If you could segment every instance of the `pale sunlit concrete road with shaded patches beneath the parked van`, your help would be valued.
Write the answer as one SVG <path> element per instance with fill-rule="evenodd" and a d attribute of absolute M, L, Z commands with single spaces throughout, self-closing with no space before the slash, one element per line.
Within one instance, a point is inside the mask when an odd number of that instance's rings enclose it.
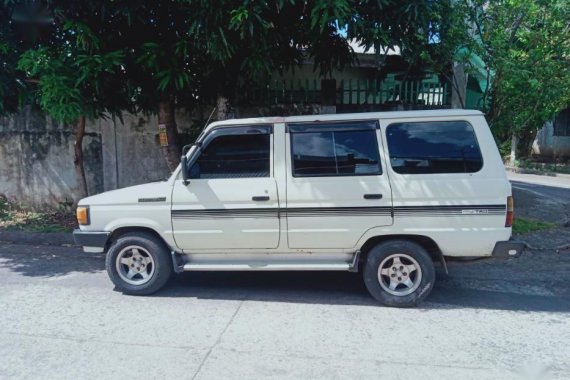
<path fill-rule="evenodd" d="M 450 270 L 416 309 L 351 273 L 186 273 L 129 297 L 100 255 L 0 243 L 0 378 L 569 378 L 570 252 Z"/>

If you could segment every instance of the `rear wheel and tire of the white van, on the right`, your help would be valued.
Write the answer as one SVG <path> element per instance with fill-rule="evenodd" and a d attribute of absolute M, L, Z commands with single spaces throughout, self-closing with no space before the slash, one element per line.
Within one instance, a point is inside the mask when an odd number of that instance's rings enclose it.
<path fill-rule="evenodd" d="M 412 241 L 386 241 L 368 252 L 364 283 L 372 297 L 383 305 L 417 306 L 431 293 L 434 282 L 433 260 Z"/>

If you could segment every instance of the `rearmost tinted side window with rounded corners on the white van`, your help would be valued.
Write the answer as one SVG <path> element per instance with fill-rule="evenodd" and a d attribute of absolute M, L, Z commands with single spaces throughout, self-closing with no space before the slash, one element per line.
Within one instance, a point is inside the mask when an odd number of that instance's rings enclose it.
<path fill-rule="evenodd" d="M 400 174 L 474 173 L 483 159 L 466 121 L 390 124 L 390 163 Z"/>

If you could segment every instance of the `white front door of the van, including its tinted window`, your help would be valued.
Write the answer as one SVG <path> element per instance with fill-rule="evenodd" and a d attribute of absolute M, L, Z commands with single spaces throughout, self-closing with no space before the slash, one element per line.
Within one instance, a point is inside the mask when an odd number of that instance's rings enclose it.
<path fill-rule="evenodd" d="M 172 227 L 184 251 L 273 249 L 279 199 L 272 126 L 226 127 L 203 141 L 185 185 L 174 184 Z"/>

